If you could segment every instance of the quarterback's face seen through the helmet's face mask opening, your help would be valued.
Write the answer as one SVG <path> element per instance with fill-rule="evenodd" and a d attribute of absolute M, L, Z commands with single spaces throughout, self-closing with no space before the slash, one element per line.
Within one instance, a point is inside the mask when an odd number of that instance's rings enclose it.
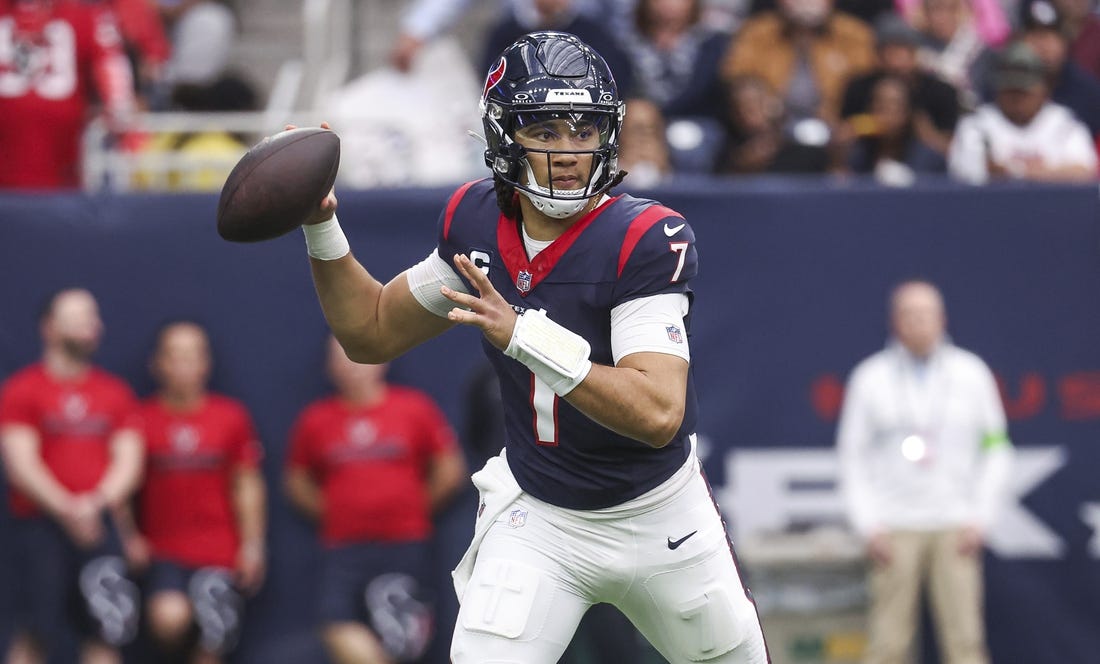
<path fill-rule="evenodd" d="M 534 119 L 516 130 L 516 142 L 527 148 L 535 182 L 552 191 L 584 189 L 592 178 L 593 155 L 601 147 L 600 123 L 583 113 L 568 118 Z M 529 179 L 529 175 L 525 176 Z"/>

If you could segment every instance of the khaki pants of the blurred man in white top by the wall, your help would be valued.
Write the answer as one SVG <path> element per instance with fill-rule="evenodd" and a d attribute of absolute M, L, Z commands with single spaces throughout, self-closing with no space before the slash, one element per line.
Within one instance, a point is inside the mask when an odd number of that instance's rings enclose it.
<path fill-rule="evenodd" d="M 988 664 L 982 622 L 981 553 L 963 555 L 959 532 L 893 532 L 893 557 L 870 572 L 866 664 L 910 661 L 927 590 L 943 664 Z"/>

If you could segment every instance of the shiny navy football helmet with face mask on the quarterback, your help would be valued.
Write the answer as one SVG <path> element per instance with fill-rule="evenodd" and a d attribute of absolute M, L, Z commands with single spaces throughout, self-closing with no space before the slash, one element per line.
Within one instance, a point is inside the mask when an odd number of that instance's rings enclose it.
<path fill-rule="evenodd" d="M 481 99 L 485 164 L 539 211 L 570 217 L 615 184 L 624 109 L 607 63 L 584 42 L 564 32 L 525 35 L 504 51 L 485 78 Z M 598 141 L 586 141 L 576 150 L 539 150 L 516 141 L 517 131 L 559 120 L 571 132 L 597 135 Z M 556 189 L 552 178 L 546 187 L 536 181 L 530 159 L 546 159 L 549 171 L 553 155 L 561 153 L 592 155 L 583 188 Z"/>

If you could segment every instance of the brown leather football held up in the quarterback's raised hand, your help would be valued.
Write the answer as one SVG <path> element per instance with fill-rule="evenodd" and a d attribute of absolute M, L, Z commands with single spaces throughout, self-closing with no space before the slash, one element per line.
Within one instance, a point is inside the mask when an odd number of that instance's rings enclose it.
<path fill-rule="evenodd" d="M 254 145 L 226 178 L 218 201 L 218 234 L 231 242 L 284 235 L 309 218 L 340 168 L 340 137 L 299 128 Z"/>

